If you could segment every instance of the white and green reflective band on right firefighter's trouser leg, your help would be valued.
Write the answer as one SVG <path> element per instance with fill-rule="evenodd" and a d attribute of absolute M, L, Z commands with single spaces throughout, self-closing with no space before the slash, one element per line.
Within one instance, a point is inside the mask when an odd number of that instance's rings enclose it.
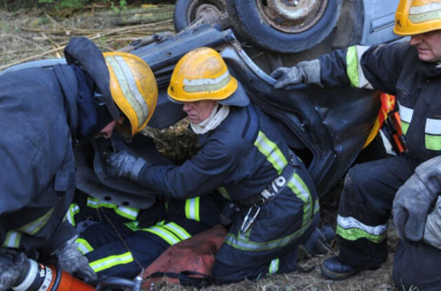
<path fill-rule="evenodd" d="M 356 239 L 369 239 L 374 243 L 380 243 L 386 237 L 387 223 L 382 225 L 366 225 L 353 217 L 337 217 L 336 234 L 349 241 Z"/>

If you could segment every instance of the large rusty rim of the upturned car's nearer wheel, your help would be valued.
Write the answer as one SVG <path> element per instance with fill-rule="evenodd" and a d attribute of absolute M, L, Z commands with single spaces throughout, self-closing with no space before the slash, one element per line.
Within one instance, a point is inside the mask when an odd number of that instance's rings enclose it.
<path fill-rule="evenodd" d="M 328 0 L 256 0 L 269 26 L 282 32 L 298 33 L 314 26 L 323 16 Z"/>

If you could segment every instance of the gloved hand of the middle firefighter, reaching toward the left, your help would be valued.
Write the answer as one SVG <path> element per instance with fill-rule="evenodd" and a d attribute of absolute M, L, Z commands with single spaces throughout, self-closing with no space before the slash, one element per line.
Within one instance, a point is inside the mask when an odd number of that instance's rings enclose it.
<path fill-rule="evenodd" d="M 133 181 L 137 181 L 139 172 L 145 163 L 143 158 L 136 157 L 125 150 L 107 153 L 104 156 L 105 168 L 110 176 L 125 177 Z"/>

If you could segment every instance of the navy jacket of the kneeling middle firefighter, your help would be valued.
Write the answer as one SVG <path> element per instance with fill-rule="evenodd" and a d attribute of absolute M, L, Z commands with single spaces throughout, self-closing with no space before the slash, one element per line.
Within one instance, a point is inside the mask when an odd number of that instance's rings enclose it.
<path fill-rule="evenodd" d="M 138 181 L 178 199 L 201 196 L 220 186 L 232 200 L 247 199 L 280 174 L 255 145 L 263 136 L 289 159 L 287 143 L 260 110 L 252 104 L 231 106 L 217 128 L 199 137 L 202 149 L 194 157 L 178 167 L 145 167 Z"/>

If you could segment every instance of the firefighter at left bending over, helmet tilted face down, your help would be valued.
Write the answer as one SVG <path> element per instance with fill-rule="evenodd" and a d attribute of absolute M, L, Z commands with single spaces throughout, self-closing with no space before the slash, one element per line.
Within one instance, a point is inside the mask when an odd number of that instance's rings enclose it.
<path fill-rule="evenodd" d="M 156 106 L 154 75 L 139 57 L 102 54 L 85 38 L 71 39 L 65 57 L 68 65 L 0 78 L 0 290 L 23 280 L 37 252 L 96 279 L 63 220 L 75 191 L 72 140 L 110 137 L 115 127 L 130 138 Z"/>

